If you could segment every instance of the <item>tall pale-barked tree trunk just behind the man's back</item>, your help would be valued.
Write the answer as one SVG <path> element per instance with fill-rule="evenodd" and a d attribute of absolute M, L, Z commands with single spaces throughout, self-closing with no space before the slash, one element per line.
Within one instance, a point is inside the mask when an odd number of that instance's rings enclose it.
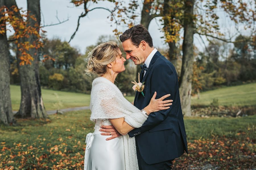
<path fill-rule="evenodd" d="M 181 107 L 184 116 L 191 116 L 191 90 L 193 76 L 193 7 L 194 0 L 185 1 L 184 9 L 184 40 L 182 44 L 182 66 L 179 81 Z"/>

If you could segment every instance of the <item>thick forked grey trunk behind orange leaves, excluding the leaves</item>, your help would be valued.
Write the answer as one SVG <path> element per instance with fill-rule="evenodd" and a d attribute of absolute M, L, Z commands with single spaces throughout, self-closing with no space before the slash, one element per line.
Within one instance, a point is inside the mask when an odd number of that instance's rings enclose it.
<path fill-rule="evenodd" d="M 8 5 L 16 5 L 15 0 L 9 0 Z M 34 15 L 36 21 L 28 17 L 27 26 L 35 27 L 37 25 L 37 31 L 40 29 L 40 0 L 27 0 L 28 15 Z M 17 17 L 21 17 L 20 13 L 15 13 Z M 30 35 L 28 38 L 23 38 L 20 41 L 28 41 L 30 44 L 37 39 L 35 35 Z M 28 53 L 34 58 L 34 61 L 31 61 L 31 65 L 19 65 L 18 71 L 20 75 L 20 89 L 21 89 L 21 101 L 20 109 L 16 113 L 17 117 L 31 117 L 31 118 L 46 118 L 48 117 L 43 99 L 41 94 L 41 85 L 39 79 L 39 55 L 38 50 L 32 48 Z M 20 63 L 20 52 L 17 52 L 18 63 Z"/>

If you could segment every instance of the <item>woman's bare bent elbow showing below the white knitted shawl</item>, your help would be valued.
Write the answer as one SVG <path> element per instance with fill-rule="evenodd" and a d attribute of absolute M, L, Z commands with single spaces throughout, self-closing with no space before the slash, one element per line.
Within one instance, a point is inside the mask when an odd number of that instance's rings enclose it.
<path fill-rule="evenodd" d="M 109 121 L 121 135 L 126 135 L 129 131 L 134 129 L 134 127 L 124 121 L 124 118 L 109 119 Z"/>

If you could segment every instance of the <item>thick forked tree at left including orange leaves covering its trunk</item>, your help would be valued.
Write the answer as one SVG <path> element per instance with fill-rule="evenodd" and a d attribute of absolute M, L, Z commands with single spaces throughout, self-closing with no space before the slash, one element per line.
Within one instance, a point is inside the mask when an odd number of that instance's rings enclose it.
<path fill-rule="evenodd" d="M 15 0 L 6 2 L 9 16 L 13 17 L 10 25 L 15 30 L 18 50 L 18 72 L 20 76 L 21 102 L 16 116 L 46 118 L 38 71 L 40 42 L 40 0 L 27 0 L 27 15 L 24 20 Z"/>

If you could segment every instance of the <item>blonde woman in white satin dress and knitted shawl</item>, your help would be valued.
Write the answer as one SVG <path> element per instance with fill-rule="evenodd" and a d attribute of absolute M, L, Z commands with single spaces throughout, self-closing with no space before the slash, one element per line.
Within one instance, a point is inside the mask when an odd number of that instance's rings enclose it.
<path fill-rule="evenodd" d="M 90 119 L 95 122 L 95 127 L 94 133 L 86 136 L 84 170 L 138 170 L 135 139 L 129 138 L 127 133 L 141 127 L 151 112 L 169 109 L 172 100 L 162 100 L 170 94 L 155 99 L 155 92 L 149 105 L 140 111 L 114 84 L 116 76 L 125 71 L 126 60 L 118 45 L 113 41 L 102 43 L 88 57 L 86 72 L 94 73 L 98 78 L 92 82 Z M 163 104 L 167 107 L 162 107 Z M 113 125 L 121 136 L 106 140 L 108 136 L 99 131 L 102 125 Z"/>

